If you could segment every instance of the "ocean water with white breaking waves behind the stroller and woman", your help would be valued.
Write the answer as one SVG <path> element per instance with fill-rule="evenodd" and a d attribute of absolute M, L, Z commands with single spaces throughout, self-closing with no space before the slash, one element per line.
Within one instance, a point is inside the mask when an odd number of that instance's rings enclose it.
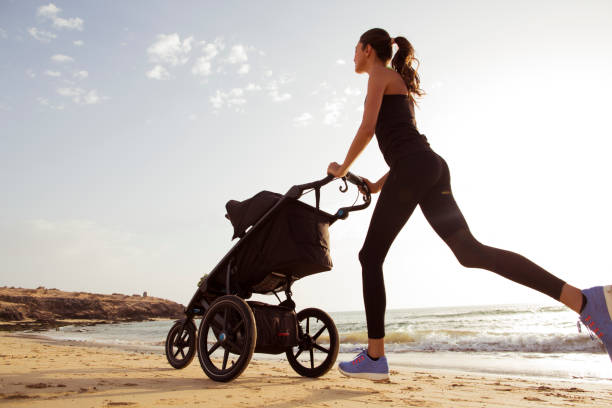
<path fill-rule="evenodd" d="M 338 361 L 367 344 L 365 314 L 329 313 L 340 335 Z M 563 306 L 492 305 L 388 310 L 386 354 L 393 366 L 530 377 L 612 381 L 603 345 Z M 196 322 L 199 324 L 199 321 Z M 39 334 L 163 353 L 170 320 L 65 326 Z M 325 338 L 321 338 L 325 341 Z M 286 360 L 255 354 L 255 359 Z M 194 360 L 197 364 L 197 359 Z"/>

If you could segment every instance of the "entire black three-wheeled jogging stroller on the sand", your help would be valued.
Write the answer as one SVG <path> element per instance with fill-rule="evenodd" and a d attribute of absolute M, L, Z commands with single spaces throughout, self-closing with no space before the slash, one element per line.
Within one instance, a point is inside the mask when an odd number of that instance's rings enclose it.
<path fill-rule="evenodd" d="M 202 370 L 215 381 L 238 377 L 253 352 L 285 353 L 291 367 L 305 377 L 322 376 L 334 365 L 339 348 L 334 321 L 320 309 L 296 313 L 291 299 L 295 281 L 332 269 L 328 227 L 370 205 L 366 183 L 347 173 L 340 191 L 348 190 L 348 180 L 361 187 L 365 203 L 340 208 L 334 215 L 320 210 L 321 187 L 334 179 L 328 175 L 295 185 L 285 195 L 262 191 L 226 204 L 232 239 L 240 240 L 200 281 L 185 318 L 168 332 L 165 349 L 172 367 L 189 365 L 196 350 Z M 316 208 L 299 201 L 305 190 L 315 191 Z M 246 301 L 253 293 L 273 294 L 279 304 Z M 197 334 L 195 316 L 202 316 Z"/>

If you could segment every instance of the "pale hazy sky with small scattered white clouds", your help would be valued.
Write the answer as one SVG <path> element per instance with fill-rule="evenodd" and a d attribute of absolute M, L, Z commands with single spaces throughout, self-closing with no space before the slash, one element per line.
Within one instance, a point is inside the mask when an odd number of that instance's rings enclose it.
<path fill-rule="evenodd" d="M 609 1 L 0 0 L 0 285 L 186 304 L 238 242 L 227 201 L 344 160 L 373 27 L 416 50 L 417 125 L 474 236 L 579 288 L 612 283 Z M 350 171 L 388 171 L 375 139 Z M 357 198 L 340 185 L 329 213 Z M 295 283 L 298 309 L 363 310 L 377 199 L 330 227 L 334 268 Z M 419 209 L 384 273 L 388 309 L 555 304 L 462 267 Z"/>

